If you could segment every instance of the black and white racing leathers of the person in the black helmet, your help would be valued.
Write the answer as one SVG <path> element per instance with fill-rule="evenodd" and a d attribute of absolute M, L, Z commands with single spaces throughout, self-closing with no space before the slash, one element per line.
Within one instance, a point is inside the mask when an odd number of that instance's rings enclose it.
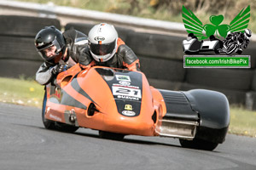
<path fill-rule="evenodd" d="M 71 67 L 79 62 L 80 58 L 86 57 L 84 54 L 84 49 L 88 45 L 87 36 L 76 30 L 68 30 L 63 32 L 63 37 L 66 41 L 67 46 L 67 58 L 61 59 L 59 63 L 51 61 L 45 61 L 43 65 L 41 65 L 36 74 L 36 81 L 42 85 L 46 85 L 53 77 L 55 77 L 55 67 L 57 65 L 67 65 L 67 67 Z"/>

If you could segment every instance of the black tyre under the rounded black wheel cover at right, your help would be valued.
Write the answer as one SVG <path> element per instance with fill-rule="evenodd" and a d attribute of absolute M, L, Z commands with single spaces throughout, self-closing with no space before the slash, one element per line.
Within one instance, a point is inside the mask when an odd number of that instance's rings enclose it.
<path fill-rule="evenodd" d="M 183 148 L 191 148 L 196 150 L 212 151 L 218 146 L 218 143 L 213 143 L 213 142 L 209 142 L 201 139 L 193 139 L 193 140 L 179 139 L 179 143 L 182 145 Z"/>

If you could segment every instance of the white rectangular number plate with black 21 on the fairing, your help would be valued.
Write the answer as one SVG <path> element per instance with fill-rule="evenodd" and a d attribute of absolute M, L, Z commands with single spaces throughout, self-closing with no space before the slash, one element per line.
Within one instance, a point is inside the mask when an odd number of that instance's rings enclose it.
<path fill-rule="evenodd" d="M 131 96 L 139 99 L 142 98 L 141 89 L 113 86 L 112 90 L 113 90 L 113 95 L 125 95 L 125 96 Z"/>

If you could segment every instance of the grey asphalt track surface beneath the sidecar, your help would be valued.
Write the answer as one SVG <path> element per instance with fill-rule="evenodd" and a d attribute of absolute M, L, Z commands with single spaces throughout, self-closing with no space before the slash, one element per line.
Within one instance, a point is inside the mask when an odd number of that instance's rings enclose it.
<path fill-rule="evenodd" d="M 44 129 L 41 111 L 0 103 L 0 169 L 222 169 L 255 170 L 256 139 L 228 135 L 214 151 L 180 147 L 177 139 L 126 136 L 99 139 L 97 131 Z"/>

